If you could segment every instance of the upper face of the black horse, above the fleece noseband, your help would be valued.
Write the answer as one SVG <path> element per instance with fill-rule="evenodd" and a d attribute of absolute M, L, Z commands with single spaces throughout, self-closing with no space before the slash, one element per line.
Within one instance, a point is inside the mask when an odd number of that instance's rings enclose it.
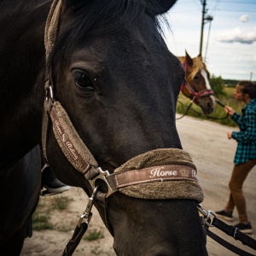
<path fill-rule="evenodd" d="M 184 73 L 155 26 L 154 1 L 123 1 L 123 9 L 98 2 L 62 1 L 49 73 L 55 101 L 98 164 L 113 171 L 149 150 L 181 148 L 175 106 Z M 84 185 L 73 173 L 65 182 Z"/>

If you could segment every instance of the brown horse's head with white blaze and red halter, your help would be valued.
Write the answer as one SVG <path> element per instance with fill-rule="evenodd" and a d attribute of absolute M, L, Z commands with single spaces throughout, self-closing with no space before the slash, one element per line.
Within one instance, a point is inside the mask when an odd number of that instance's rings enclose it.
<path fill-rule="evenodd" d="M 215 98 L 211 89 L 209 79 L 210 73 L 206 64 L 202 61 L 201 55 L 191 58 L 186 51 L 186 55 L 178 57 L 186 72 L 186 83 L 183 83 L 182 92 L 198 106 L 203 113 L 209 114 L 215 108 Z"/>

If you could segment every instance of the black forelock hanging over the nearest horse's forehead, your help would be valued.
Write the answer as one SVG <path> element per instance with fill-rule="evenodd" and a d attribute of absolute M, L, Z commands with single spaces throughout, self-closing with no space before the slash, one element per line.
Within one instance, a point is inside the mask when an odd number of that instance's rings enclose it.
<path fill-rule="evenodd" d="M 49 67 L 53 65 L 53 61 L 55 63 L 66 61 L 72 49 L 88 35 L 121 32 L 124 26 L 129 26 L 145 13 L 154 20 L 160 33 L 163 34 L 163 30 L 159 19 L 165 21 L 168 26 L 163 15 L 157 17 L 154 15 L 160 9 L 156 1 L 145 3 L 144 0 L 94 0 L 88 2 L 72 10 L 75 12 L 73 20 L 57 38 L 55 48 L 49 56 Z"/>

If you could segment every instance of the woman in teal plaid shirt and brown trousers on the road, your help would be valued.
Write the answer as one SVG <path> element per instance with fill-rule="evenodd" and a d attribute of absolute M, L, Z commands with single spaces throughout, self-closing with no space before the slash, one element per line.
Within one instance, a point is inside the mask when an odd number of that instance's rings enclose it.
<path fill-rule="evenodd" d="M 242 193 L 242 184 L 247 174 L 256 165 L 256 84 L 251 81 L 240 81 L 236 85 L 234 93 L 236 101 L 245 102 L 245 108 L 241 109 L 241 115 L 233 108 L 226 106 L 225 112 L 229 113 L 240 131 L 228 131 L 228 138 L 237 142 L 236 154 L 232 175 L 230 177 L 230 197 L 224 210 L 216 212 L 218 218 L 233 221 L 233 210 L 236 207 L 239 215 L 239 223 L 235 228 L 246 234 L 253 233 L 253 228 L 247 217 L 246 200 Z"/>

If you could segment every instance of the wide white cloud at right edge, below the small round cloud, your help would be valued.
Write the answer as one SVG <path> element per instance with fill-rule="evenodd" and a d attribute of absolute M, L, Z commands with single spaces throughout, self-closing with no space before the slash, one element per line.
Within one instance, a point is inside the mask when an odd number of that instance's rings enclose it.
<path fill-rule="evenodd" d="M 222 33 L 217 40 L 223 43 L 253 44 L 253 42 L 256 42 L 256 28 L 254 27 L 251 32 L 243 32 L 240 27 L 236 27 L 233 30 Z"/>

